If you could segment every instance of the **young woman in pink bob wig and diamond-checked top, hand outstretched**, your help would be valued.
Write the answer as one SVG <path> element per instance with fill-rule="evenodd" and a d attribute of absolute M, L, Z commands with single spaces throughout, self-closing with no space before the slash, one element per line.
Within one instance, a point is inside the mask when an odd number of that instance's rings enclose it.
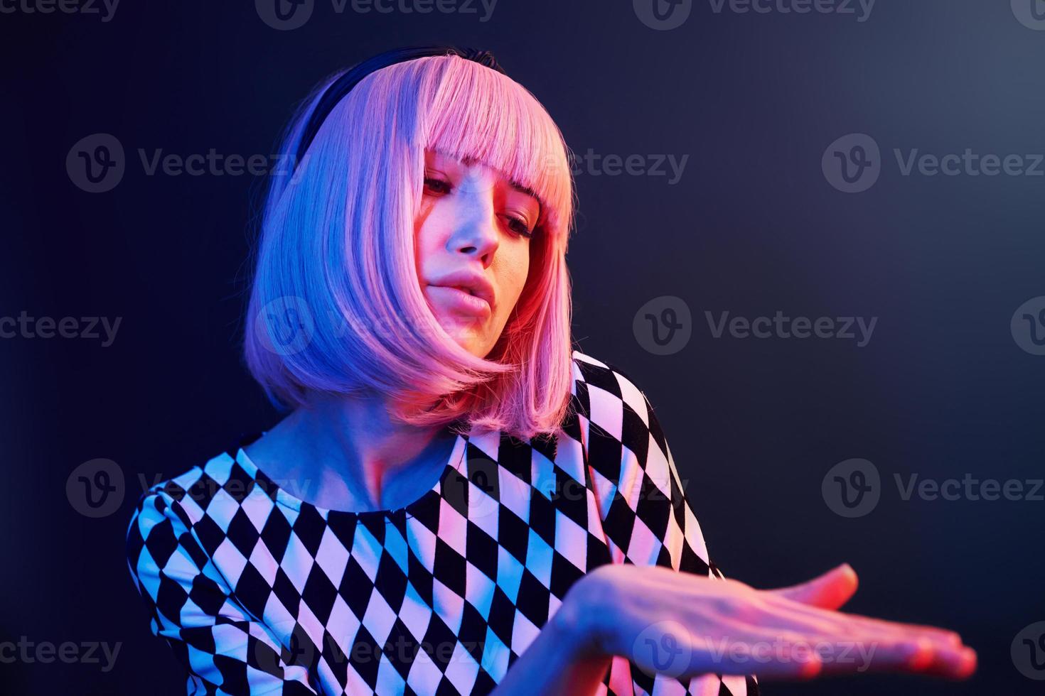
<path fill-rule="evenodd" d="M 576 350 L 567 150 L 488 52 L 343 71 L 284 137 L 246 327 L 289 414 L 142 496 L 190 694 L 754 694 L 975 653 L 716 568 L 653 408 Z"/>

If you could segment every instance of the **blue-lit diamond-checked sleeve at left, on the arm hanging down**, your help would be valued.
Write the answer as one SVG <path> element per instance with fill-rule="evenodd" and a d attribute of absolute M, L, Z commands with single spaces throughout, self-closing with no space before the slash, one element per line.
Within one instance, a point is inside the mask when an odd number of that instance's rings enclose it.
<path fill-rule="evenodd" d="M 187 670 L 189 696 L 318 694 L 306 668 L 289 664 L 291 653 L 231 596 L 191 528 L 181 504 L 162 487 L 150 488 L 126 535 L 127 566 L 149 627 Z"/>

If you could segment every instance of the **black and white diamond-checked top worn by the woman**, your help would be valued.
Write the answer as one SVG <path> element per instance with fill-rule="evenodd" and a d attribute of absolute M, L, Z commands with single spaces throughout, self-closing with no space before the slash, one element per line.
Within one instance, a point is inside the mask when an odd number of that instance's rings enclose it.
<path fill-rule="evenodd" d="M 664 432 L 621 370 L 575 351 L 554 436 L 458 435 L 397 510 L 317 507 L 242 450 L 159 483 L 127 562 L 189 694 L 487 694 L 604 563 L 722 577 Z M 742 696 L 753 677 L 649 676 L 614 657 L 600 694 Z"/>

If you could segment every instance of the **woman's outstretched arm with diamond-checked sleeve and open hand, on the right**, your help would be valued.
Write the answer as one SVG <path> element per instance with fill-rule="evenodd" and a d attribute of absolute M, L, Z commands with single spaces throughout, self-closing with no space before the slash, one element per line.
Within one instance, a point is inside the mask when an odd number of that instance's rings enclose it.
<path fill-rule="evenodd" d="M 571 587 L 495 696 L 587 696 L 601 690 L 609 665 L 621 665 L 623 676 L 624 665 L 632 668 L 636 694 L 757 693 L 751 672 L 767 678 L 867 671 L 965 678 L 975 670 L 975 653 L 951 631 L 834 610 L 856 590 L 849 567 L 782 590 L 725 579 L 706 556 L 645 395 L 619 373 L 598 368 L 587 376 L 591 383 L 578 388 L 591 424 L 585 457 L 590 454 L 586 463 L 613 562 Z M 629 405 L 614 409 L 614 403 Z M 649 483 L 667 497 L 653 494 Z M 655 675 L 655 690 L 649 675 Z M 612 677 L 614 692 L 632 687 Z M 681 683 L 672 686 L 673 679 Z"/>

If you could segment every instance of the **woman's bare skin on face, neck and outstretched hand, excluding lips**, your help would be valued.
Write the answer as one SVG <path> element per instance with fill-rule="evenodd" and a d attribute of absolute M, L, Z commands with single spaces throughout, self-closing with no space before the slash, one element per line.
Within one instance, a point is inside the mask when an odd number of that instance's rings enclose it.
<path fill-rule="evenodd" d="M 440 326 L 485 357 L 522 292 L 530 259 L 524 233 L 533 230 L 539 202 L 500 172 L 437 152 L 425 153 L 424 178 L 415 221 L 418 283 Z M 491 312 L 465 314 L 433 288 L 462 268 L 493 285 Z M 362 511 L 398 508 L 429 490 L 452 442 L 438 429 L 394 424 L 379 400 L 317 397 L 247 453 L 277 483 L 312 482 L 312 495 L 299 497 Z M 857 584 L 846 565 L 779 590 L 661 567 L 603 566 L 570 589 L 493 694 L 594 694 L 614 655 L 655 672 L 642 649 L 647 639 L 683 649 L 683 664 L 671 665 L 680 678 L 906 672 L 962 679 L 975 671 L 976 653 L 952 631 L 838 611 Z M 760 652 L 765 646 L 774 649 Z"/>

